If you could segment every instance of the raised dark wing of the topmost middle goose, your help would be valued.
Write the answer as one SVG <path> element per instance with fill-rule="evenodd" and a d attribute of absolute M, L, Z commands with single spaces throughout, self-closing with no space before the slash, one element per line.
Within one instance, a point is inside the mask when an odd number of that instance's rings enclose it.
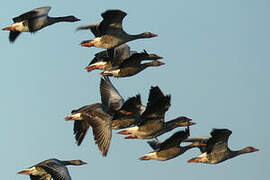
<path fill-rule="evenodd" d="M 121 10 L 108 10 L 101 14 L 103 20 L 99 25 L 101 35 L 108 34 L 111 29 L 122 29 L 122 21 L 127 14 Z"/>

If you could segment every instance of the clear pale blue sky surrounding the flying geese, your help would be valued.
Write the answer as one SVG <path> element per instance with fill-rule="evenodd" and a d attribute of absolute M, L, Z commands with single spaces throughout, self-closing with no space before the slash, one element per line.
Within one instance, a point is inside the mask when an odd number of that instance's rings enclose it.
<path fill-rule="evenodd" d="M 14 44 L 9 43 L 8 32 L 0 33 L 1 179 L 29 179 L 16 173 L 53 157 L 88 162 L 69 167 L 74 180 L 270 178 L 269 0 L 5 1 L 0 7 L 1 28 L 41 6 L 52 6 L 50 16 L 75 15 L 81 21 L 22 33 Z M 123 27 L 130 34 L 157 33 L 157 38 L 128 45 L 156 53 L 166 63 L 133 77 L 112 79 L 124 98 L 140 93 L 146 104 L 150 87 L 158 85 L 172 96 L 166 120 L 192 118 L 197 125 L 191 127 L 191 136 L 228 128 L 233 132 L 231 149 L 253 146 L 260 151 L 217 165 L 187 163 L 200 154 L 198 149 L 166 162 L 141 162 L 138 158 L 151 151 L 147 140 L 126 140 L 114 131 L 103 158 L 92 130 L 77 147 L 73 122 L 64 117 L 100 102 L 100 76 L 83 68 L 102 49 L 80 47 L 93 35 L 75 29 L 101 21 L 100 14 L 107 9 L 128 13 Z"/>

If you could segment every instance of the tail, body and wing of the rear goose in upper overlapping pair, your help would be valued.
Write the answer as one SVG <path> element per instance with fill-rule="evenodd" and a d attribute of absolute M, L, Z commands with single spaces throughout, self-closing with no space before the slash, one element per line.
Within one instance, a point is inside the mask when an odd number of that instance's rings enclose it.
<path fill-rule="evenodd" d="M 114 49 L 113 58 L 109 56 L 107 50 L 96 53 L 94 59 L 85 69 L 90 72 L 94 69 L 111 70 L 112 68 L 118 68 L 125 59 L 128 59 L 134 53 L 136 51 L 130 51 L 128 45 L 122 44 Z"/>

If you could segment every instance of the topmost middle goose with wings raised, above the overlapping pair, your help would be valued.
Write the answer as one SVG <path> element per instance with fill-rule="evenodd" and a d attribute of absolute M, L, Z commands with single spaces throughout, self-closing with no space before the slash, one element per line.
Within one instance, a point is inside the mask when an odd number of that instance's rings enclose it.
<path fill-rule="evenodd" d="M 122 28 L 122 21 L 126 15 L 127 13 L 121 10 L 107 10 L 101 14 L 103 20 L 100 23 L 77 28 L 90 29 L 96 37 L 93 40 L 83 41 L 81 46 L 112 49 L 132 40 L 157 36 L 150 32 L 137 35 L 126 33 Z"/>

